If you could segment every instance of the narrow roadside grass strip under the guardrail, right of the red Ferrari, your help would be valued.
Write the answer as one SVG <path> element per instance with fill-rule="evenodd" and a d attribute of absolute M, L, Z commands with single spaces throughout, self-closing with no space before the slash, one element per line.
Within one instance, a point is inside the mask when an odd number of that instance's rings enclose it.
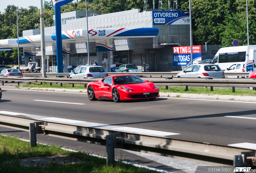
<path fill-rule="evenodd" d="M 159 86 L 159 91 L 162 93 L 191 93 L 191 94 L 207 94 L 207 95 L 240 95 L 240 96 L 256 96 L 256 90 L 250 89 L 237 89 L 235 88 L 235 93 L 232 89 L 221 89 L 214 88 L 211 91 L 211 87 L 188 87 L 188 91 L 185 91 L 186 87 L 168 87 Z"/>

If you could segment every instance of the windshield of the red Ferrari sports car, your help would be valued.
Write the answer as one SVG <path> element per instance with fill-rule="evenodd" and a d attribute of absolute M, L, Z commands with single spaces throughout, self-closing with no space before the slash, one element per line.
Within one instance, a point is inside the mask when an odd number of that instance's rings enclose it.
<path fill-rule="evenodd" d="M 137 76 L 127 75 L 127 76 L 117 76 L 114 77 L 114 84 L 135 84 L 135 83 L 145 83 L 144 80 Z"/>

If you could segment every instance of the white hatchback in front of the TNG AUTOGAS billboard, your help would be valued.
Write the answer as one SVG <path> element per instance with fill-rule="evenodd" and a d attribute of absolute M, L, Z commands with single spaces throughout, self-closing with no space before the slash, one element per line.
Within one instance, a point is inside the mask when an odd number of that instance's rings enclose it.
<path fill-rule="evenodd" d="M 185 78 L 224 78 L 225 74 L 218 65 L 215 64 L 193 64 L 178 73 L 176 77 Z"/>

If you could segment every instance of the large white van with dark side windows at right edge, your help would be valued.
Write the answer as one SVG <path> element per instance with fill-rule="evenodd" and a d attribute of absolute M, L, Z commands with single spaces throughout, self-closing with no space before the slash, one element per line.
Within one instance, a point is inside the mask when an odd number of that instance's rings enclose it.
<path fill-rule="evenodd" d="M 231 65 L 245 63 L 246 60 L 254 60 L 256 62 L 256 45 L 220 48 L 212 63 L 218 64 L 222 70 L 226 70 Z M 256 66 L 254 64 L 255 70 Z"/>

